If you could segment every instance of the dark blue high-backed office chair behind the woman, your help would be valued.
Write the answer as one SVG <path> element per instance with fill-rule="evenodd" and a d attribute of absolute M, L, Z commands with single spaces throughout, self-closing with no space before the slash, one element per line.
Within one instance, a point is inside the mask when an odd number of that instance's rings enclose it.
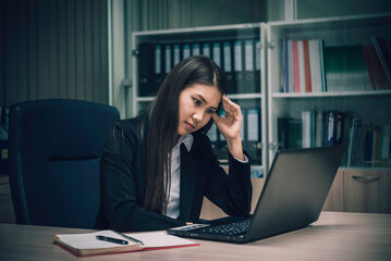
<path fill-rule="evenodd" d="M 10 185 L 16 223 L 93 228 L 110 105 L 49 99 L 10 108 Z"/>

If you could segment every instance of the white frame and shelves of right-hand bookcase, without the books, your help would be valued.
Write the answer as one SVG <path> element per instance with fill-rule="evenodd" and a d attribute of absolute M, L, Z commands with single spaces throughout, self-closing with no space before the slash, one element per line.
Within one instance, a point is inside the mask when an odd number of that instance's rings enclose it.
<path fill-rule="evenodd" d="M 354 15 L 329 18 L 270 22 L 267 24 L 267 74 L 269 119 L 269 164 L 278 149 L 278 119 L 301 119 L 302 111 L 338 110 L 354 112 L 364 123 L 391 124 L 391 89 L 333 91 L 333 92 L 280 92 L 281 40 L 322 39 L 325 47 L 372 45 L 371 37 L 390 39 L 391 14 Z M 325 50 L 325 49 L 323 49 Z M 390 169 L 390 167 L 386 167 Z"/>

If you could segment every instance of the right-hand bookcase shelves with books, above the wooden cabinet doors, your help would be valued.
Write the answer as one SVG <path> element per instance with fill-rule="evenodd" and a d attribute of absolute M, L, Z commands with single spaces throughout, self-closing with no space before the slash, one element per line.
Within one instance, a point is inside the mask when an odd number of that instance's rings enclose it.
<path fill-rule="evenodd" d="M 387 156 L 389 150 L 376 154 L 376 151 L 381 151 L 382 147 L 380 146 L 379 149 L 377 146 L 375 149 L 372 144 L 366 145 L 369 140 L 369 138 L 366 140 L 368 129 L 371 129 L 375 136 L 374 129 L 378 126 L 381 129 L 381 138 L 378 142 L 387 140 L 383 134 L 389 132 L 387 128 L 391 125 L 391 82 L 387 78 L 386 72 L 380 76 L 372 75 L 379 70 L 374 69 L 372 73 L 368 73 L 367 64 L 372 59 L 366 59 L 374 58 L 374 53 L 367 54 L 363 51 L 363 46 L 374 45 L 372 37 L 390 40 L 390 32 L 391 13 L 267 24 L 270 47 L 267 50 L 269 163 L 272 162 L 279 148 L 318 146 L 316 136 L 328 135 L 326 126 L 329 125 L 325 124 L 327 124 L 329 113 L 334 113 L 333 117 L 337 119 L 339 117 L 337 112 L 341 112 L 342 123 L 337 121 L 333 123 L 334 126 L 338 124 L 342 126 L 340 142 L 347 147 L 342 166 L 346 170 L 364 167 L 374 172 L 379 169 L 391 170 L 390 157 Z M 320 47 L 314 48 L 311 44 L 308 44 L 314 39 L 320 40 Z M 309 58 L 305 57 L 306 48 Z M 320 48 L 322 55 L 317 55 L 317 48 L 318 51 Z M 323 67 L 314 66 L 316 63 L 310 60 L 314 57 L 318 59 L 315 61 L 323 61 L 323 63 L 320 62 Z M 307 64 L 309 62 L 309 71 L 305 67 L 306 59 Z M 297 67 L 300 70 L 295 71 Z M 309 82 L 313 87 L 309 91 L 306 89 L 308 87 L 307 75 L 313 80 L 319 80 L 318 83 Z M 320 112 L 323 114 L 320 115 Z M 358 127 L 354 128 L 354 134 L 358 138 L 351 139 L 351 134 L 353 134 L 351 126 L 355 116 L 358 119 Z M 322 119 L 322 134 L 316 133 L 316 129 L 320 129 L 316 127 L 318 126 L 317 119 Z M 292 130 L 290 137 L 286 136 L 288 128 Z M 357 133 L 356 129 L 358 129 Z M 296 136 L 294 136 L 295 132 Z M 303 135 L 303 132 L 307 135 Z M 333 135 L 337 138 L 335 130 Z M 294 138 L 296 142 L 286 141 L 292 137 L 296 137 Z M 328 139 L 319 138 L 318 142 L 325 146 Z M 366 149 L 369 147 L 371 151 Z"/>

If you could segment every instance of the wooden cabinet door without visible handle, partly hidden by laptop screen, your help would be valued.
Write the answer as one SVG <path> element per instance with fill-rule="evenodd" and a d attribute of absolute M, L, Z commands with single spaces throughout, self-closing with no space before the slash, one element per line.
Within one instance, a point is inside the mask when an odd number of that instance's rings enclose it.
<path fill-rule="evenodd" d="M 323 209 L 326 211 L 344 211 L 343 207 L 343 170 L 339 169 L 334 182 L 327 196 Z"/>

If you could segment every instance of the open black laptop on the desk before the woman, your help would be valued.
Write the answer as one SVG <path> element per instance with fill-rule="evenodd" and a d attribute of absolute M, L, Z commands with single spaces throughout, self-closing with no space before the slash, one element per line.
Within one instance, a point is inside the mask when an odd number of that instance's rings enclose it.
<path fill-rule="evenodd" d="M 320 215 L 344 149 L 333 146 L 278 151 L 253 215 L 167 232 L 188 238 L 248 243 L 306 227 Z"/>

